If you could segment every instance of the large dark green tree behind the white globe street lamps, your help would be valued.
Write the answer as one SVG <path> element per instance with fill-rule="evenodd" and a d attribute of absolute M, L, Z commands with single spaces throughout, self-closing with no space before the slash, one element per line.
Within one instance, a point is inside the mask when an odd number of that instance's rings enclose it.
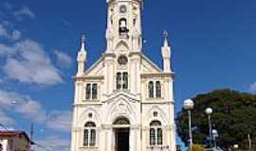
<path fill-rule="evenodd" d="M 192 98 L 193 143 L 203 144 L 209 135 L 205 109 L 212 108 L 212 128 L 219 132 L 218 145 L 228 148 L 239 144 L 247 149 L 247 134 L 251 136 L 252 150 L 256 150 L 256 95 L 229 89 L 198 94 Z M 189 142 L 188 114 L 182 109 L 176 118 L 177 133 L 186 144 Z"/>

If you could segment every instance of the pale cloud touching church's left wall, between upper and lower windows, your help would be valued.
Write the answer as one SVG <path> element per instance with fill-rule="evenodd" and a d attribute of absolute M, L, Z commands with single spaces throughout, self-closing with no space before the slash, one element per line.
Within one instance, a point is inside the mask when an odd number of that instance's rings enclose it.
<path fill-rule="evenodd" d="M 54 110 L 48 116 L 46 127 L 68 132 L 71 129 L 71 115 L 70 110 Z"/>

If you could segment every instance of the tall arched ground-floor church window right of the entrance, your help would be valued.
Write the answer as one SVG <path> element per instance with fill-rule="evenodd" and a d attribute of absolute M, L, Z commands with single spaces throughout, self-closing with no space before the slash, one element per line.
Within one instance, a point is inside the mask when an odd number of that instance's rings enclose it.
<path fill-rule="evenodd" d="M 150 123 L 150 145 L 162 145 L 163 131 L 159 121 Z"/>

